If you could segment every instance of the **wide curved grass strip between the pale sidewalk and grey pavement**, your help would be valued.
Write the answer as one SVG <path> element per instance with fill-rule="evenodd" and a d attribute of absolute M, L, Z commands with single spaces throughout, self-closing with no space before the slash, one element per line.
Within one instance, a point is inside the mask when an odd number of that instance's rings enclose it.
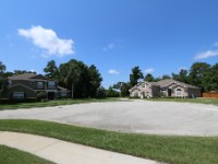
<path fill-rule="evenodd" d="M 0 120 L 0 131 L 47 136 L 172 164 L 218 163 L 218 137 L 133 134 L 49 121 L 7 119 Z"/>

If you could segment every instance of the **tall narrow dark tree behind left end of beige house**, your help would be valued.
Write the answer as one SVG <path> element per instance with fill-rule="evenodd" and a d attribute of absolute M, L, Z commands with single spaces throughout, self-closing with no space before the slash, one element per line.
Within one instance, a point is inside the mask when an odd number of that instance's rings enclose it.
<path fill-rule="evenodd" d="M 142 73 L 140 67 L 137 66 L 132 69 L 132 73 L 130 74 L 131 86 L 136 85 L 140 79 L 143 79 L 143 73 Z"/>

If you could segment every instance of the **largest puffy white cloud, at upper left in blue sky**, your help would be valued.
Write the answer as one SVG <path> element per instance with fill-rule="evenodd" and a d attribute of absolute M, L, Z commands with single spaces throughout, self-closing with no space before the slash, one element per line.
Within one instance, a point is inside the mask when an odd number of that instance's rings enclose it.
<path fill-rule="evenodd" d="M 72 39 L 61 39 L 56 32 L 41 26 L 32 28 L 19 28 L 19 34 L 33 40 L 33 44 L 46 50 L 46 56 L 63 57 L 74 54 L 74 42 Z"/>

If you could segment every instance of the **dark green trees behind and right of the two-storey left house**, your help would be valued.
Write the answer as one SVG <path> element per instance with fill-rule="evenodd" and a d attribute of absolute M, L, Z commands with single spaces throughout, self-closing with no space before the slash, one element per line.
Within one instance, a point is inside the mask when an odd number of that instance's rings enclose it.
<path fill-rule="evenodd" d="M 7 89 L 8 77 L 22 73 L 36 73 L 25 70 L 14 70 L 14 72 L 7 72 L 5 70 L 7 67 L 0 62 L 0 83 L 3 89 Z M 60 86 L 71 90 L 72 98 L 99 97 L 106 92 L 101 87 L 101 74 L 94 65 L 88 67 L 82 61 L 72 59 L 57 66 L 56 61 L 51 60 L 48 61 L 44 72 L 49 79 L 58 81 Z"/>

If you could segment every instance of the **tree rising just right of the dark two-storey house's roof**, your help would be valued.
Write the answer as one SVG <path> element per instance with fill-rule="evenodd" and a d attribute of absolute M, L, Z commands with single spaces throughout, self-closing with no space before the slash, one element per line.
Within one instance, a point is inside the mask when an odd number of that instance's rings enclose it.
<path fill-rule="evenodd" d="M 49 79 L 58 80 L 59 69 L 56 65 L 55 60 L 48 61 L 46 68 L 44 68 L 44 72 L 46 72 L 46 77 Z"/>

